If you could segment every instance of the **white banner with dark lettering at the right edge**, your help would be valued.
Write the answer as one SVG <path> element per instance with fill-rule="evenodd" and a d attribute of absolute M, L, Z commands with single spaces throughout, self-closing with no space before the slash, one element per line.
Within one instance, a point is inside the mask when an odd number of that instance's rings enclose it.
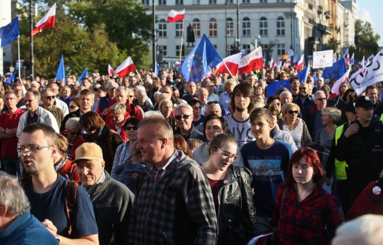
<path fill-rule="evenodd" d="M 372 62 L 350 77 L 350 84 L 357 95 L 363 93 L 367 86 L 381 81 L 383 81 L 383 50 L 375 55 Z"/>

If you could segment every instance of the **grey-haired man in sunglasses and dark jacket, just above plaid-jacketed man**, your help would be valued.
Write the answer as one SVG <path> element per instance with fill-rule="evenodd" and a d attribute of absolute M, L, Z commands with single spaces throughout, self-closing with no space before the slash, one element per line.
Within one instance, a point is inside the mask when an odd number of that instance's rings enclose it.
<path fill-rule="evenodd" d="M 205 141 L 203 133 L 193 126 L 193 108 L 188 104 L 179 104 L 175 108 L 177 130 L 175 133 L 181 135 L 186 141 L 198 139 Z"/>

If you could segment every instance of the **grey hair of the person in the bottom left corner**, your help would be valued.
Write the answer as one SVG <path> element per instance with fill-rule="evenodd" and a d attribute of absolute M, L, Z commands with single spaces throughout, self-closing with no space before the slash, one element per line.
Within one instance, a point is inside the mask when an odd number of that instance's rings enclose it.
<path fill-rule="evenodd" d="M 28 197 L 17 179 L 0 171 L 0 204 L 7 206 L 6 216 L 21 215 L 31 209 Z"/>

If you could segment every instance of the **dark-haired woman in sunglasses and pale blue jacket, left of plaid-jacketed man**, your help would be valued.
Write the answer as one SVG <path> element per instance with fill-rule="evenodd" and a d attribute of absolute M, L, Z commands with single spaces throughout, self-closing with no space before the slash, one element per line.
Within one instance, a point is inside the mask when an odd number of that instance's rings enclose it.
<path fill-rule="evenodd" d="M 124 165 L 129 159 L 133 150 L 133 143 L 137 140 L 138 123 L 138 118 L 130 117 L 126 120 L 123 126 L 123 130 L 126 132 L 128 141 L 117 147 L 116 153 L 114 155 L 112 171 L 110 173 L 110 176 L 119 182 L 122 181 L 117 179 L 117 175 L 121 173 L 122 165 Z"/>

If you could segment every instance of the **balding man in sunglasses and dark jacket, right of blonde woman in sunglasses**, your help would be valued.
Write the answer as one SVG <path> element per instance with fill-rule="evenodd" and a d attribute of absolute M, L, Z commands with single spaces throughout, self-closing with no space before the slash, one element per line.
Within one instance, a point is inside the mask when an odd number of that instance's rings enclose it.
<path fill-rule="evenodd" d="M 310 109 L 306 118 L 303 118 L 313 139 L 315 139 L 318 130 L 325 127 L 322 123 L 322 109 L 327 105 L 326 94 L 321 90 L 315 92 L 314 103 L 315 105 Z"/>

